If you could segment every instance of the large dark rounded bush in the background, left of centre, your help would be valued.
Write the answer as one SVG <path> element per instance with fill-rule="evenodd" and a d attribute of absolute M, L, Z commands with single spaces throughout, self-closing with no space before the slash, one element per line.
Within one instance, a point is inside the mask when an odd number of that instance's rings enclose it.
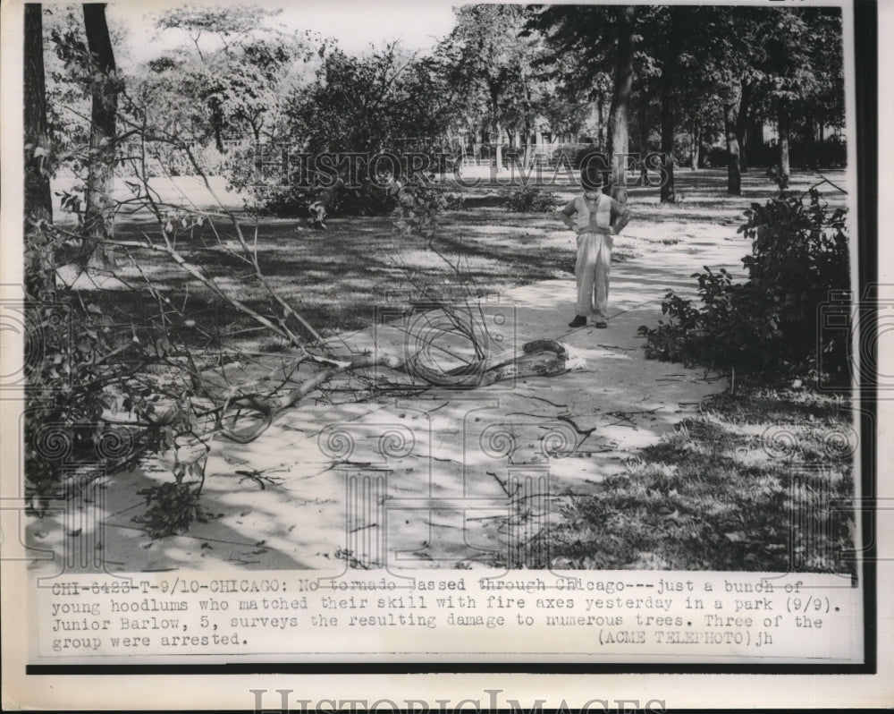
<path fill-rule="evenodd" d="M 397 205 L 392 181 L 407 183 L 423 155 L 428 166 L 443 161 L 442 137 L 455 113 L 443 72 L 397 43 L 359 58 L 323 47 L 319 58 L 316 77 L 285 92 L 283 127 L 275 148 L 262 147 L 273 150 L 260 171 L 252 144 L 231 157 L 225 175 L 257 213 L 303 217 L 320 202 L 329 216 L 385 215 Z M 291 151 L 284 162 L 283 148 Z M 402 166 L 377 160 L 382 154 Z"/>

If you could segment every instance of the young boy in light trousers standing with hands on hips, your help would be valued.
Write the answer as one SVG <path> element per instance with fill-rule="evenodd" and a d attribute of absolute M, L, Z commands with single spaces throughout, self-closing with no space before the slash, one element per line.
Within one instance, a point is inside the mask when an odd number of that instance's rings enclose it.
<path fill-rule="evenodd" d="M 595 327 L 608 327 L 611 236 L 620 234 L 630 220 L 627 206 L 603 193 L 599 171 L 581 171 L 583 195 L 569 201 L 556 215 L 578 234 L 578 314 L 569 327 L 584 327 L 590 315 Z"/>

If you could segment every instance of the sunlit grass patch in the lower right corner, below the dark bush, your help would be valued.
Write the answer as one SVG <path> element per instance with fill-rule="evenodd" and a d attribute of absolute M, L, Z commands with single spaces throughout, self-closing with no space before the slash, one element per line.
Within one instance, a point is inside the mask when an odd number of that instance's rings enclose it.
<path fill-rule="evenodd" d="M 853 574 L 851 412 L 749 387 L 642 449 L 546 536 L 553 566 Z"/>

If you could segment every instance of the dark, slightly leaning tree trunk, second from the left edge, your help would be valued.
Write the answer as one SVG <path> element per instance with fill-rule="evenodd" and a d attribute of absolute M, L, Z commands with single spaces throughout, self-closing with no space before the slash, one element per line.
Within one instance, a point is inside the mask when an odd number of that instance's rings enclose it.
<path fill-rule="evenodd" d="M 84 225 L 80 251 L 82 266 L 111 261 L 111 251 L 99 249 L 114 233 L 112 185 L 115 159 L 115 115 L 118 112 L 118 80 L 112 40 L 105 22 L 105 4 L 88 3 L 84 8 L 87 45 L 95 61 L 95 72 L 102 76 L 93 84 L 90 115 L 90 149 L 87 191 L 84 198 Z"/>

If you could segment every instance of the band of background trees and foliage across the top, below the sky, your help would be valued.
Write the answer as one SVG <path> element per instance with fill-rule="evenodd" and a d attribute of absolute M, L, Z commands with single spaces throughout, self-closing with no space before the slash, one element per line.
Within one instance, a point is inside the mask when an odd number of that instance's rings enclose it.
<path fill-rule="evenodd" d="M 75 55 L 92 53 L 104 72 L 114 71 L 127 30 L 110 30 L 101 4 L 84 5 L 82 18 L 80 6 L 29 7 L 29 143 L 45 152 L 44 166 L 52 144 L 68 167 L 88 169 L 83 199 L 91 217 L 103 212 L 103 166 L 114 166 L 128 147 L 113 131 L 121 91 L 142 98 L 154 115 L 149 123 L 190 141 L 211 173 L 228 175 L 237 188 L 257 183 L 260 143 L 312 155 L 433 152 L 479 136 L 502 166 L 508 136 L 507 149 L 528 166 L 535 132 L 548 126 L 614 157 L 621 200 L 619 157 L 660 151 L 661 200 L 672 202 L 675 164 L 700 166 L 705 147 L 725 144 L 713 159 L 726 164 L 727 190 L 736 195 L 751 158 L 772 161 L 785 182 L 793 147 L 815 166 L 827 132 L 844 123 L 839 8 L 467 5 L 455 10 L 453 30 L 430 54 L 392 43 L 355 57 L 332 39 L 277 25 L 275 11 L 190 5 L 156 18 L 158 32 L 182 38 L 179 47 L 94 81 L 78 72 L 84 65 Z M 772 157 L 757 140 L 764 125 L 778 136 Z M 85 143 L 92 153 L 76 156 L 72 149 Z M 752 148 L 763 156 L 750 157 Z M 159 173 L 189 170 L 163 148 L 155 158 Z M 57 160 L 51 170 L 65 166 Z M 338 175 L 343 183 L 344 167 Z M 274 193 L 266 198 L 281 207 L 319 199 L 287 188 Z M 343 191 L 323 198 L 344 208 L 362 204 L 345 199 Z"/>

